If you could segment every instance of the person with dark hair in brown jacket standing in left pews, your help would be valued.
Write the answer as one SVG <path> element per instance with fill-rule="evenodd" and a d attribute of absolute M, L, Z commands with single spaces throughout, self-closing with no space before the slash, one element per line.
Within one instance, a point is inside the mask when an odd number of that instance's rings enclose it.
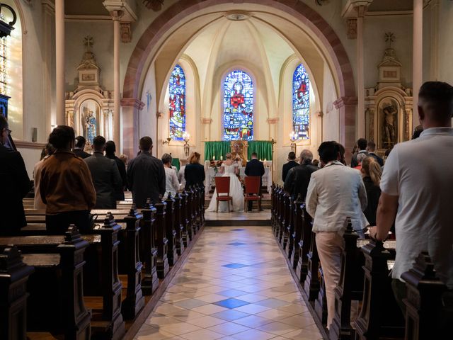
<path fill-rule="evenodd" d="M 91 229 L 89 212 L 96 204 L 96 190 L 88 166 L 71 152 L 73 128 L 58 125 L 49 142 L 55 152 L 42 164 L 40 178 L 47 232 L 64 234 L 71 224 L 86 232 Z"/>

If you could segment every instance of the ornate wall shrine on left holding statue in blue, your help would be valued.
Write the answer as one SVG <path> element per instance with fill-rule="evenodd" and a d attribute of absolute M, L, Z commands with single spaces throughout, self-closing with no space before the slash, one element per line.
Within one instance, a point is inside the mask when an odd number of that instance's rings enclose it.
<path fill-rule="evenodd" d="M 86 52 L 77 67 L 79 84 L 66 94 L 66 119 L 76 135 L 86 138 L 86 149 L 91 149 L 97 135 L 113 138 L 113 91 L 105 91 L 99 82 L 101 69 L 91 51 L 93 38 L 86 37 L 84 45 Z"/>

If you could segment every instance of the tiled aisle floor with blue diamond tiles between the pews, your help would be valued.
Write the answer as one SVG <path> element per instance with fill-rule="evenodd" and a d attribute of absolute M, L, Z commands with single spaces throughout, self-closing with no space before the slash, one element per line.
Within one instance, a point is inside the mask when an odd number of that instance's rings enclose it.
<path fill-rule="evenodd" d="M 136 339 L 322 339 L 270 227 L 205 227 Z"/>

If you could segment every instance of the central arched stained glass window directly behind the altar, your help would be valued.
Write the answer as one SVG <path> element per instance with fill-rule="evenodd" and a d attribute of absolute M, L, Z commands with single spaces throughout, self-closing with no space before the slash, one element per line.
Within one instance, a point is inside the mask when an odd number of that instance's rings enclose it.
<path fill-rule="evenodd" d="M 253 81 L 240 70 L 224 81 L 224 140 L 253 140 Z"/>

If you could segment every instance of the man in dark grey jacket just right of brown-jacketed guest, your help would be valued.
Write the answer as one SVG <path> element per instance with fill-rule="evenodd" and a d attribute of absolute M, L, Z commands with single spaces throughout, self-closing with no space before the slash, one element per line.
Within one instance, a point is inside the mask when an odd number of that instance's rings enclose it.
<path fill-rule="evenodd" d="M 116 193 L 122 191 L 120 171 L 113 159 L 104 156 L 105 138 L 93 138 L 93 155 L 84 159 L 91 172 L 94 188 L 96 189 L 97 209 L 115 209 Z"/>

